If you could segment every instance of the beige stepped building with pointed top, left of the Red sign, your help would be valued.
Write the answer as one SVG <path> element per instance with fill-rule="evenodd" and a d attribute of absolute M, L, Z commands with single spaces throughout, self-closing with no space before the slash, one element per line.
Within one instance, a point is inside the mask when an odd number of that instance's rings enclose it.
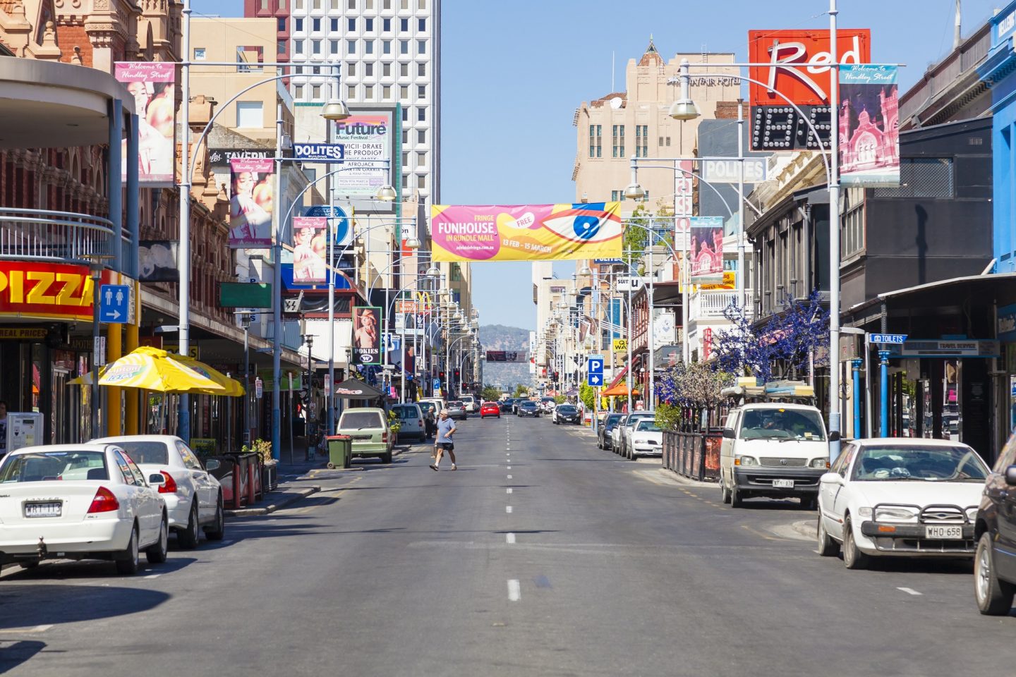
<path fill-rule="evenodd" d="M 701 120 L 715 118 L 718 101 L 737 100 L 740 86 L 726 77 L 695 77 L 692 68 L 691 97 L 701 117 L 681 122 L 668 116 L 671 104 L 680 93 L 669 80 L 677 77 L 682 59 L 692 64 L 716 64 L 713 74 L 738 73 L 733 54 L 677 54 L 663 61 L 652 41 L 638 61 L 630 59 L 625 68 L 625 89 L 592 101 L 582 101 L 576 109 L 573 124 L 577 129 L 577 153 L 572 181 L 576 202 L 624 200 L 625 187 L 631 183 L 631 157 L 691 157 L 698 138 Z M 646 191 L 647 204 L 656 212 L 674 206 L 674 172 L 646 168 L 639 172 L 639 183 Z M 635 208 L 632 201 L 624 213 Z"/>

